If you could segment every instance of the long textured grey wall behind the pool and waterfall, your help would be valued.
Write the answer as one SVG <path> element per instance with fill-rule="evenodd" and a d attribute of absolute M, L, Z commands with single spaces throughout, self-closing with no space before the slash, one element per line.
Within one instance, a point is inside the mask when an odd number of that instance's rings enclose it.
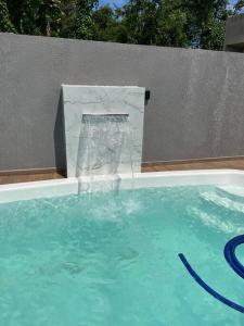
<path fill-rule="evenodd" d="M 0 171 L 64 167 L 61 84 L 151 90 L 143 161 L 244 154 L 244 57 L 0 34 Z"/>

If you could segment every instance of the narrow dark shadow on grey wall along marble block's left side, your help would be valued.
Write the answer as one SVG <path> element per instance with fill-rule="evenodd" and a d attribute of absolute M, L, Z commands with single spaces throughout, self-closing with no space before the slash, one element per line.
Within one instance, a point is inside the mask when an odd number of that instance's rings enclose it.
<path fill-rule="evenodd" d="M 55 149 L 55 166 L 59 172 L 66 176 L 66 152 L 65 152 L 65 131 L 64 131 L 64 112 L 63 112 L 63 95 L 60 92 L 60 99 L 56 111 L 56 120 L 54 126 L 54 149 Z"/>

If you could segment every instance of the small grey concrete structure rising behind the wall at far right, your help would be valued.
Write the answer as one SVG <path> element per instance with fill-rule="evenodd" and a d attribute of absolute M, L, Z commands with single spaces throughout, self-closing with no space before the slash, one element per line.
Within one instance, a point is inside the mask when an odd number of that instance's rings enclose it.
<path fill-rule="evenodd" d="M 244 14 L 227 20 L 224 48 L 228 51 L 244 52 Z"/>

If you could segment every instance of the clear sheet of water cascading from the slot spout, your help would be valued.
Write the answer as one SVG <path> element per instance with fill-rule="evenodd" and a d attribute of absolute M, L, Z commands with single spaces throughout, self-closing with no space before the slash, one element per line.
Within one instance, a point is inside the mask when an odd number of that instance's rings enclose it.
<path fill-rule="evenodd" d="M 118 173 L 123 168 L 131 171 L 133 179 L 131 143 L 127 114 L 84 114 L 76 176 L 89 177 L 91 185 L 94 176 L 103 175 L 111 180 L 110 190 L 118 187 Z"/>

